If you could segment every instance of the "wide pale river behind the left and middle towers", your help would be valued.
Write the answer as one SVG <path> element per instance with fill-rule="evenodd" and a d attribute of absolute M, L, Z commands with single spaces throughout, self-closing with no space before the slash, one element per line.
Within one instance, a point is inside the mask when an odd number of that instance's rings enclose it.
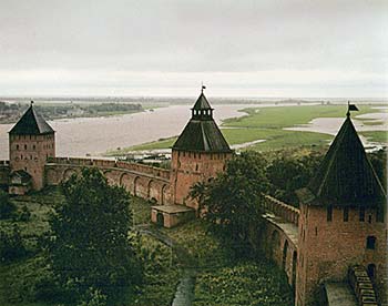
<path fill-rule="evenodd" d="M 273 105 L 273 104 L 272 104 Z M 216 105 L 219 124 L 226 118 L 242 116 L 244 104 Z M 134 114 L 106 118 L 78 118 L 49 121 L 55 130 L 57 155 L 98 156 L 108 150 L 125 147 L 161 137 L 178 135 L 191 118 L 190 105 L 172 105 Z M 0 124 L 0 160 L 8 160 L 8 132 L 13 124 Z"/>

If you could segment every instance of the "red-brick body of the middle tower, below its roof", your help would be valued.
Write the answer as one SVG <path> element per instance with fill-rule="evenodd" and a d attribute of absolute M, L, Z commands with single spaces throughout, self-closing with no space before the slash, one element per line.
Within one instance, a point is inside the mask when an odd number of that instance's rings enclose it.
<path fill-rule="evenodd" d="M 231 153 L 194 153 L 173 150 L 171 186 L 174 203 L 197 210 L 198 204 L 188 197 L 191 186 L 197 182 L 207 182 L 218 172 L 223 172 L 225 162 L 231 157 Z"/>

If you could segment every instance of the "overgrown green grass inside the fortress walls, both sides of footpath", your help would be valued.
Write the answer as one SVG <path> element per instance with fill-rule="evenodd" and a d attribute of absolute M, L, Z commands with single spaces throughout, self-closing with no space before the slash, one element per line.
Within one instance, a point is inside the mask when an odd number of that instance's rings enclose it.
<path fill-rule="evenodd" d="M 17 224 L 21 232 L 27 254 L 16 261 L 0 264 L 0 305 L 2 306 L 53 306 L 48 302 L 50 293 L 44 293 L 44 282 L 50 274 L 50 266 L 40 251 L 41 235 L 49 230 L 49 214 L 54 204 L 64 201 L 59 188 L 11 200 L 23 211 L 27 206 L 30 220 L 2 220 L 2 231 L 12 231 Z M 195 297 L 193 305 L 293 305 L 293 294 L 285 280 L 285 275 L 264 258 L 235 259 L 216 237 L 207 233 L 207 224 L 194 220 L 182 226 L 166 230 L 150 224 L 151 204 L 141 198 L 132 198 L 134 223 L 147 224 L 151 231 L 172 238 L 176 247 L 166 246 L 160 241 L 141 235 L 141 254 L 144 265 L 144 283 L 131 288 L 127 294 L 116 296 L 112 305 L 164 306 L 171 305 L 176 286 L 182 276 L 178 249 L 195 259 Z M 45 302 L 44 302 L 45 300 Z M 62 304 L 60 304 L 62 305 Z M 65 304 L 63 304 L 65 305 Z M 72 305 L 72 304 L 67 304 Z"/>

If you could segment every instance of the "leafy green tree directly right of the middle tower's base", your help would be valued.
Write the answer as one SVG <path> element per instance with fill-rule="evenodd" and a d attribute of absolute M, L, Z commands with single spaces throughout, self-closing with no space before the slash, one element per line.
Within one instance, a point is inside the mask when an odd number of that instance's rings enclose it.
<path fill-rule="evenodd" d="M 266 161 L 257 152 L 244 152 L 226 164 L 226 171 L 208 183 L 203 196 L 205 220 L 224 242 L 244 253 L 252 228 L 261 220 L 263 193 L 268 190 Z"/>

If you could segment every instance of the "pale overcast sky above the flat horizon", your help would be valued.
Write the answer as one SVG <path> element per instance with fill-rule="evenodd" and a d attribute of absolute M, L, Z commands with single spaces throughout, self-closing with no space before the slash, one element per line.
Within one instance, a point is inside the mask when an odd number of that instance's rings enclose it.
<path fill-rule="evenodd" d="M 386 0 L 0 0 L 0 96 L 388 98 Z"/>

